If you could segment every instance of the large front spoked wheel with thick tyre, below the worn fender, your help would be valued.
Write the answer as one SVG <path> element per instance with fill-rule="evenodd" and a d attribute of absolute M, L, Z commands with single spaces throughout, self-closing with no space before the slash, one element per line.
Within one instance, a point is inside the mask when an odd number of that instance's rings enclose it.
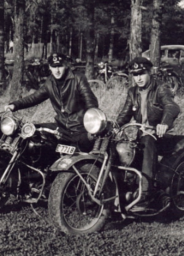
<path fill-rule="evenodd" d="M 93 171 L 89 173 L 91 169 Z M 109 212 L 104 209 L 103 204 L 99 205 L 92 200 L 88 190 L 94 191 L 98 167 L 86 164 L 78 170 L 86 184 L 75 173 L 59 173 L 52 184 L 48 199 L 51 220 L 55 226 L 60 226 L 61 230 L 67 234 L 83 234 L 100 230 Z"/>

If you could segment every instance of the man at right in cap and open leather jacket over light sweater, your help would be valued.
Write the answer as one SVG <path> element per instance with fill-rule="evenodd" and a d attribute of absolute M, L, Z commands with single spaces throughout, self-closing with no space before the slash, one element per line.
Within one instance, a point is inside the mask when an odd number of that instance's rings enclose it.
<path fill-rule="evenodd" d="M 164 144 L 164 134 L 171 129 L 175 118 L 180 112 L 179 106 L 174 102 L 170 87 L 151 76 L 153 64 L 146 58 L 136 57 L 129 63 L 129 72 L 132 74 L 136 86 L 128 90 L 125 105 L 117 123 L 119 126 L 128 123 L 132 117 L 137 123 L 154 126 L 156 128 L 157 142 L 155 139 L 142 133 L 140 144 L 143 148 L 142 161 L 142 197 L 141 205 L 148 202 L 153 187 L 153 174 L 157 163 L 158 144 Z M 149 129 L 148 132 L 155 133 Z"/>

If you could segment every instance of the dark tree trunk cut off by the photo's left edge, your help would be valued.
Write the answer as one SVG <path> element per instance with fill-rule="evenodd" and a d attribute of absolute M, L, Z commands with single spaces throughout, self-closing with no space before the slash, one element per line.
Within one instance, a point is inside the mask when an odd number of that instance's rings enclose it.
<path fill-rule="evenodd" d="M 4 69 L 4 1 L 0 2 L 0 94 L 6 87 L 6 74 Z"/>

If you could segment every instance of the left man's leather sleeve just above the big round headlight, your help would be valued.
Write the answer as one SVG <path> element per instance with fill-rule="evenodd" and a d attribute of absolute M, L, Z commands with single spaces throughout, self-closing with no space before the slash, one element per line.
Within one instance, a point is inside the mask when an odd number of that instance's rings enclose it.
<path fill-rule="evenodd" d="M 85 75 L 78 76 L 78 90 L 86 110 L 88 108 L 98 108 L 98 100 L 91 90 Z"/>

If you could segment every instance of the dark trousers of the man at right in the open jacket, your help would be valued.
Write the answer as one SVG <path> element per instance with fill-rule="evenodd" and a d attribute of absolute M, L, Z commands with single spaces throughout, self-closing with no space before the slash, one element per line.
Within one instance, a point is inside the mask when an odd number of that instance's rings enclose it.
<path fill-rule="evenodd" d="M 171 156 L 171 154 L 177 154 L 183 150 L 184 136 L 165 134 L 163 138 L 155 140 L 152 136 L 145 135 L 140 138 L 140 145 L 143 153 L 142 189 L 150 191 L 153 189 L 158 155 Z"/>

